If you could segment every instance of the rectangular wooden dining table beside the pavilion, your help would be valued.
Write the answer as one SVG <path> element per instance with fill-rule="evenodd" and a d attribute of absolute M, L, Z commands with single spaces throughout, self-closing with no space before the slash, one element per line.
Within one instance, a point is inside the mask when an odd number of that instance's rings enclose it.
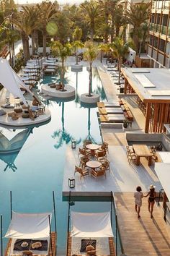
<path fill-rule="evenodd" d="M 133 145 L 133 150 L 135 151 L 136 155 L 136 165 L 140 165 L 140 157 L 146 157 L 148 158 L 148 166 L 151 166 L 152 164 L 152 153 L 148 149 L 147 145 Z"/>

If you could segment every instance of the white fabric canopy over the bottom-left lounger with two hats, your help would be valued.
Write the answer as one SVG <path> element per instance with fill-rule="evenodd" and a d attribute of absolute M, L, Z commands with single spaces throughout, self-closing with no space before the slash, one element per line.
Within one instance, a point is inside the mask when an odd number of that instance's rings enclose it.
<path fill-rule="evenodd" d="M 46 239 L 50 236 L 52 213 L 12 213 L 5 237 L 14 239 Z"/>

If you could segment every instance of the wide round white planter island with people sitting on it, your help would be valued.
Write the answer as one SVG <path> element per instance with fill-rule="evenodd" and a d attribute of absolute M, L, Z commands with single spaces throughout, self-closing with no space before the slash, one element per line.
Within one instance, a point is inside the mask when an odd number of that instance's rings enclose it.
<path fill-rule="evenodd" d="M 53 98 L 71 98 L 75 96 L 75 88 L 70 85 L 65 85 L 64 91 L 55 90 L 55 88 L 50 88 L 48 85 L 42 85 L 41 91 L 44 95 L 48 95 Z"/>

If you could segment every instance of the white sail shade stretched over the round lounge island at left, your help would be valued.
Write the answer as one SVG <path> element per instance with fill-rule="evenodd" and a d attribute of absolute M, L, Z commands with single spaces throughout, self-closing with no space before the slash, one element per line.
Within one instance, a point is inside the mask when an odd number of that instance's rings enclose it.
<path fill-rule="evenodd" d="M 14 72 L 14 69 L 9 65 L 7 59 L 2 58 L 0 58 L 0 83 L 4 88 L 6 88 L 6 90 L 12 93 L 14 97 L 22 98 L 24 104 L 27 105 L 27 102 L 22 95 L 22 91 L 20 90 L 21 87 L 28 90 L 27 87 L 24 85 L 24 82 L 22 82 L 17 73 Z"/>

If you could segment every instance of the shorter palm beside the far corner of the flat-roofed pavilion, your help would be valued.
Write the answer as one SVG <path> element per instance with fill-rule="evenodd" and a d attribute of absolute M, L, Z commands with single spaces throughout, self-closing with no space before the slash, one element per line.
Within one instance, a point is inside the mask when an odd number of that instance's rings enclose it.
<path fill-rule="evenodd" d="M 120 69 L 122 64 L 122 59 L 125 58 L 125 54 L 128 54 L 129 51 L 129 44 L 124 43 L 124 41 L 121 38 L 115 38 L 114 42 L 110 44 L 110 48 L 112 51 L 112 54 L 117 58 L 117 65 L 119 70 L 119 80 L 118 83 L 120 83 Z"/>

